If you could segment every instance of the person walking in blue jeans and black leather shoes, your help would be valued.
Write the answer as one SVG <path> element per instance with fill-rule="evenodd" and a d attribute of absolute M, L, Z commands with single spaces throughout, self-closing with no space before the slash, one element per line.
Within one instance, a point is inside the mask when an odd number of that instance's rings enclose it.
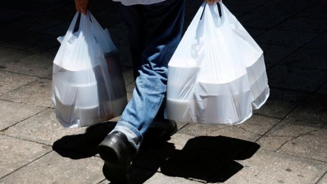
<path fill-rule="evenodd" d="M 186 0 L 120 1 L 120 14 L 128 27 L 135 88 L 133 97 L 114 129 L 99 144 L 105 177 L 128 183 L 133 156 L 143 141 L 165 139 L 177 124 L 165 116 L 168 61 L 182 36 Z M 206 0 L 214 4 L 219 0 Z M 86 14 L 89 0 L 75 0 Z"/>

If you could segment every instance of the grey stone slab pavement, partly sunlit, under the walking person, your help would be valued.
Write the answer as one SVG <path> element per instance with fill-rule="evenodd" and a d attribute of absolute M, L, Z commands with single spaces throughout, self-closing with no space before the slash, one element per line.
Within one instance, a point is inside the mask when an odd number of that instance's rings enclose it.
<path fill-rule="evenodd" d="M 187 0 L 185 28 L 201 0 Z M 147 184 L 327 184 L 327 0 L 224 0 L 264 50 L 271 96 L 236 126 L 179 123 L 143 146 L 130 171 Z M 117 4 L 94 0 L 134 79 Z M 73 1 L 0 2 L 0 184 L 108 184 L 96 146 L 118 118 L 63 128 L 51 102 L 52 62 Z"/>

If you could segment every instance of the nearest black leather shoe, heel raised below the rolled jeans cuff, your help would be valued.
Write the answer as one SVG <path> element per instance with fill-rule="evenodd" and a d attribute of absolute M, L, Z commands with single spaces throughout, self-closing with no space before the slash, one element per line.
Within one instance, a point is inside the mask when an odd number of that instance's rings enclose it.
<path fill-rule="evenodd" d="M 120 131 L 110 133 L 98 146 L 100 157 L 105 161 L 102 169 L 107 180 L 127 184 L 128 170 L 136 149 L 125 134 Z"/>

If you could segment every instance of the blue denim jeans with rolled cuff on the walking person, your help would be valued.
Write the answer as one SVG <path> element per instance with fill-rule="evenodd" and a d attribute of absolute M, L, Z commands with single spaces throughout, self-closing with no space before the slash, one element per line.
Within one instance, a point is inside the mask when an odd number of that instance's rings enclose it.
<path fill-rule="evenodd" d="M 135 88 L 112 131 L 123 132 L 138 149 L 155 119 L 164 119 L 168 62 L 181 39 L 185 0 L 149 5 L 120 5 L 129 29 Z M 165 121 L 167 122 L 167 121 Z M 111 132 L 112 132 L 111 131 Z"/>

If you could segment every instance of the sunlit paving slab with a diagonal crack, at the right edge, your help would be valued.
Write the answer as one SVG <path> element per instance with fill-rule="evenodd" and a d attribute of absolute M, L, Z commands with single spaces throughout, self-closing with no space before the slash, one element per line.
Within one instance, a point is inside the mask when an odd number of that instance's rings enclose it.
<path fill-rule="evenodd" d="M 257 142 L 263 149 L 326 162 L 326 133 L 323 124 L 283 120 Z"/>

